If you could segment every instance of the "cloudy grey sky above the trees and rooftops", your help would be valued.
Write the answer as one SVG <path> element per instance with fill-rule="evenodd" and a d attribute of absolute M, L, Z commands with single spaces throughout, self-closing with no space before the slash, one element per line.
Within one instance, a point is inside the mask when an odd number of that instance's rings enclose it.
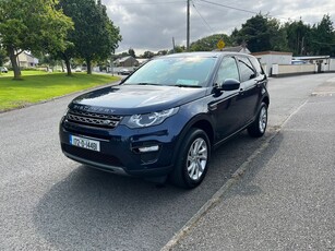
<path fill-rule="evenodd" d="M 187 0 L 103 0 L 107 14 L 120 28 L 122 41 L 116 53 L 134 49 L 158 51 L 187 44 Z M 335 26 L 335 0 L 190 0 L 190 44 L 225 33 L 230 35 L 256 13 L 280 22 L 319 23 L 330 14 Z"/>

